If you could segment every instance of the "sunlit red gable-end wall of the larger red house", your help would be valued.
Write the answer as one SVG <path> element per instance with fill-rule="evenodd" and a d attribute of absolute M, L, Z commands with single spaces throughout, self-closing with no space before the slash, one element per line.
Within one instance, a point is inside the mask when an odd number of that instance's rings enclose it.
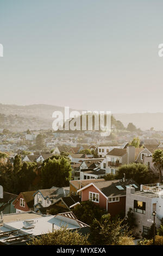
<path fill-rule="evenodd" d="M 93 203 L 99 205 L 99 207 L 101 209 L 106 209 L 106 198 L 93 185 L 85 188 L 85 190 L 82 191 L 82 202 L 89 200 L 89 192 L 98 193 L 99 194 L 99 203 L 96 203 L 96 202 L 93 202 Z"/>

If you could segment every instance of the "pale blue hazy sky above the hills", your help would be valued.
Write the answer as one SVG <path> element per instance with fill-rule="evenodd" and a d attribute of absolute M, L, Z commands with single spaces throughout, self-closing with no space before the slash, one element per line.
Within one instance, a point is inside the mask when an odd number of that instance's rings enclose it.
<path fill-rule="evenodd" d="M 162 0 L 0 0 L 0 103 L 163 112 Z"/>

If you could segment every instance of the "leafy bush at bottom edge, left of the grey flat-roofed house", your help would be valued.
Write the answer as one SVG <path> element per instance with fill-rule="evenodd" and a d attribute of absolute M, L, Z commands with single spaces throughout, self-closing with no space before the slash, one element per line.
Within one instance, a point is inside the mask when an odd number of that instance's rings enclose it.
<path fill-rule="evenodd" d="M 90 233 L 92 245 L 118 245 L 122 236 L 130 236 L 127 225 L 122 223 L 123 220 L 112 221 L 110 214 L 103 215 L 101 220 L 93 220 Z"/>

